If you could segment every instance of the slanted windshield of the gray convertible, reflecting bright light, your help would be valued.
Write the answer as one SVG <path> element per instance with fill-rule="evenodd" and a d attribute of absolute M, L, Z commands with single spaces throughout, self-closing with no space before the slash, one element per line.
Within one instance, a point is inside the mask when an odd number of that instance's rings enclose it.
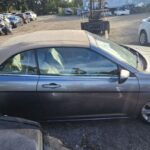
<path fill-rule="evenodd" d="M 137 54 L 109 40 L 103 39 L 93 34 L 98 48 L 111 54 L 118 60 L 127 63 L 128 65 L 138 69 Z"/>

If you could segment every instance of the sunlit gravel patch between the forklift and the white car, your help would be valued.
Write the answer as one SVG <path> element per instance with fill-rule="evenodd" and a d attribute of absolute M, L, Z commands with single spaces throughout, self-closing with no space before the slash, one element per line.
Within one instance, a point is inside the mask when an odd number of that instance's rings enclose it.
<path fill-rule="evenodd" d="M 117 43 L 137 45 L 139 25 L 142 19 L 149 16 L 150 13 L 108 18 L 111 23 L 110 39 Z"/>

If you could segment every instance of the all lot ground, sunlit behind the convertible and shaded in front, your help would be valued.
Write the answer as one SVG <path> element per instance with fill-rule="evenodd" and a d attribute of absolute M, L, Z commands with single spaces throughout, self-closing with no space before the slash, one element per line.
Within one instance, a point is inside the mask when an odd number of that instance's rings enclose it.
<path fill-rule="evenodd" d="M 150 14 L 109 17 L 109 38 L 121 44 L 138 44 L 140 21 L 148 16 Z M 40 16 L 37 21 L 15 29 L 13 35 L 0 36 L 0 44 L 13 36 L 39 30 L 80 29 L 81 21 L 79 17 Z M 139 120 L 49 123 L 44 127 L 73 150 L 150 149 L 150 126 Z"/>

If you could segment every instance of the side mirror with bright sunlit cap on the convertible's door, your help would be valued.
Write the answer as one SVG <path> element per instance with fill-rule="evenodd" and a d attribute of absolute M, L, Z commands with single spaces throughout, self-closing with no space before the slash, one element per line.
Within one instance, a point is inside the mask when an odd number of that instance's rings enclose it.
<path fill-rule="evenodd" d="M 125 82 L 130 77 L 130 72 L 128 70 L 121 69 L 119 75 L 119 83 Z"/>

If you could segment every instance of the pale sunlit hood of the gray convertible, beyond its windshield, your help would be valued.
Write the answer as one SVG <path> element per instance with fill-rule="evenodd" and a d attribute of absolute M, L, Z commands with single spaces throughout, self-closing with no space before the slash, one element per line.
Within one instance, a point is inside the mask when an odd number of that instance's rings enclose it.
<path fill-rule="evenodd" d="M 125 45 L 125 47 L 136 50 L 144 57 L 147 63 L 147 69 L 145 70 L 145 72 L 150 73 L 150 47 L 138 46 L 138 45 Z"/>

